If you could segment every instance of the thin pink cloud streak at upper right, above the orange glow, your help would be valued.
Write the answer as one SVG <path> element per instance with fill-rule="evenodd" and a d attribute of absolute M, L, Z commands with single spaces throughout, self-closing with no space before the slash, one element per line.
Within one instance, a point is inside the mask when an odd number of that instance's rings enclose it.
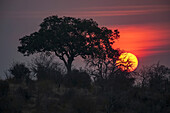
<path fill-rule="evenodd" d="M 97 17 L 97 16 L 126 16 L 143 15 L 170 11 L 170 5 L 139 5 L 139 6 L 108 6 L 88 7 L 77 12 L 65 12 L 66 14 Z"/>

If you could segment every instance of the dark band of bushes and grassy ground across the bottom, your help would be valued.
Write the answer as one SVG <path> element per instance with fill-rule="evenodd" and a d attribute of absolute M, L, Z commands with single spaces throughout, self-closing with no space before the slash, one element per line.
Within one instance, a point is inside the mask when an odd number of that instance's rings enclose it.
<path fill-rule="evenodd" d="M 0 113 L 170 113 L 170 69 L 74 69 L 52 57 L 14 63 L 0 80 Z"/>

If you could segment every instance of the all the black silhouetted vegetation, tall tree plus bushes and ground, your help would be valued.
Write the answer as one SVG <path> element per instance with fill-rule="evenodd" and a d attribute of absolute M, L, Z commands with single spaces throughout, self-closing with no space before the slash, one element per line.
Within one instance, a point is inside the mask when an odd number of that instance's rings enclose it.
<path fill-rule="evenodd" d="M 138 72 L 118 69 L 119 51 L 112 49 L 117 30 L 57 16 L 40 26 L 20 39 L 18 50 L 42 54 L 28 65 L 14 63 L 0 80 L 0 113 L 170 113 L 170 69 L 159 63 Z M 71 70 L 76 56 L 87 69 Z"/>

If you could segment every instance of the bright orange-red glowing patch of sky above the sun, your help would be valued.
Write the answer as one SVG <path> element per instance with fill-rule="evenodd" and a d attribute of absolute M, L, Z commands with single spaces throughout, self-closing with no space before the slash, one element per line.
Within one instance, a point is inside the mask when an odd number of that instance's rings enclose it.
<path fill-rule="evenodd" d="M 114 48 L 129 51 L 138 58 L 156 53 L 170 52 L 164 46 L 170 45 L 168 24 L 120 25 L 120 39 L 116 40 Z"/>

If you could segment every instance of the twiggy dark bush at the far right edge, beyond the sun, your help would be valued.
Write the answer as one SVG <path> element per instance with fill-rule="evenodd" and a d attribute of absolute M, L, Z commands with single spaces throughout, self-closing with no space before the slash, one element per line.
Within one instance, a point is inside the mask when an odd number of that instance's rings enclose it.
<path fill-rule="evenodd" d="M 155 91 L 166 91 L 168 90 L 170 69 L 157 63 L 143 67 L 137 77 L 141 80 L 142 87 L 148 87 Z"/>

